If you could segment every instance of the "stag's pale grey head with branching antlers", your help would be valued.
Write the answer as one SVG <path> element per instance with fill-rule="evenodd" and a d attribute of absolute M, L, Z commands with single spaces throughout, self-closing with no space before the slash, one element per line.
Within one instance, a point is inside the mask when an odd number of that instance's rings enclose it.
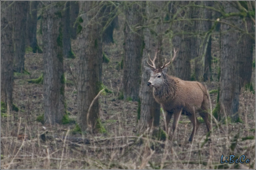
<path fill-rule="evenodd" d="M 178 50 L 175 50 L 175 48 L 174 48 L 173 49 L 173 52 L 174 52 L 173 58 L 168 63 L 166 63 L 166 58 L 165 58 L 164 65 L 159 67 L 159 68 L 156 68 L 156 66 L 155 66 L 156 56 L 157 56 L 157 53 L 159 51 L 155 51 L 155 56 L 154 56 L 153 60 L 151 60 L 151 58 L 148 56 L 149 60 L 152 63 L 152 65 L 151 65 L 147 61 L 148 65 L 151 68 L 145 67 L 146 70 L 150 73 L 150 79 L 149 79 L 149 81 L 147 83 L 148 86 L 152 86 L 152 87 L 157 88 L 157 87 L 161 86 L 161 84 L 164 83 L 164 81 L 165 81 L 165 74 L 167 72 L 167 67 L 166 66 L 170 65 L 170 63 L 174 61 L 174 59 L 176 58 L 177 51 Z"/>

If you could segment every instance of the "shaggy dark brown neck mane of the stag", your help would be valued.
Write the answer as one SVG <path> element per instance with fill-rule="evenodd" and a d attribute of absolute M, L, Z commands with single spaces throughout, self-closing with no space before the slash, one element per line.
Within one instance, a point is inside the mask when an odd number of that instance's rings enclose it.
<path fill-rule="evenodd" d="M 177 88 L 177 82 L 171 76 L 167 74 L 162 74 L 162 76 L 164 78 L 163 85 L 154 88 L 154 97 L 161 103 L 166 101 L 167 98 L 174 98 Z"/>

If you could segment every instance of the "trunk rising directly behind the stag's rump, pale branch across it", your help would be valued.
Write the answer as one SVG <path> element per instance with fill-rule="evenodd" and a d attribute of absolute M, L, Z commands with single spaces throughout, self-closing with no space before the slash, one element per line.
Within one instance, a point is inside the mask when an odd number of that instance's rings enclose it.
<path fill-rule="evenodd" d="M 198 5 L 211 6 L 210 1 L 198 1 Z M 212 11 L 195 8 L 193 18 L 212 19 Z M 211 21 L 195 21 L 196 37 L 192 38 L 191 57 L 195 58 L 195 78 L 206 81 L 211 77 Z"/>

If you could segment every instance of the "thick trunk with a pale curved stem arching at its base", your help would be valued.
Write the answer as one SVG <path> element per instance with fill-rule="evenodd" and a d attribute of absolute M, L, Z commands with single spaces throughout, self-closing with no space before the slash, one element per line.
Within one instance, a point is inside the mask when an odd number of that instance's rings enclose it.
<path fill-rule="evenodd" d="M 79 1 L 81 14 L 81 32 L 78 36 L 78 123 L 82 129 L 94 130 L 99 121 L 99 102 L 96 99 L 100 91 L 102 70 L 101 6 L 97 1 Z M 89 115 L 88 115 L 89 114 Z M 87 121 L 88 117 L 88 121 Z"/>

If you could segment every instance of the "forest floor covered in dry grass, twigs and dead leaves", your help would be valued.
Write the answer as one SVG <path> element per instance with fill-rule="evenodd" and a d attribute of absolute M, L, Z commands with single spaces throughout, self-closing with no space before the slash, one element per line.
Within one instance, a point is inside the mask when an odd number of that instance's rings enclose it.
<path fill-rule="evenodd" d="M 173 140 L 153 139 L 137 130 L 138 102 L 119 99 L 122 89 L 122 69 L 117 67 L 123 56 L 123 28 L 114 31 L 115 43 L 104 44 L 110 59 L 103 63 L 102 82 L 113 93 L 100 96 L 102 130 L 82 135 L 77 120 L 77 91 L 72 74 L 76 76 L 77 59 L 65 59 L 65 97 L 68 124 L 47 126 L 38 122 L 44 113 L 43 84 L 29 83 L 43 72 L 42 54 L 27 52 L 25 67 L 30 74 L 14 74 L 13 102 L 19 111 L 1 113 L 1 169 L 255 169 L 255 94 L 241 90 L 239 123 L 227 118 L 218 124 L 212 120 L 211 140 L 207 140 L 204 123 L 200 124 L 193 142 L 188 142 L 192 124 L 181 116 Z M 40 35 L 39 35 L 40 43 Z M 213 35 L 213 81 L 206 82 L 209 91 L 218 89 L 218 34 Z M 74 53 L 76 43 L 72 42 Z M 168 48 L 168 46 L 166 47 Z M 170 50 L 170 49 L 169 49 Z M 166 52 L 168 55 L 168 52 Z M 255 58 L 255 56 L 254 56 Z M 252 82 L 255 82 L 255 69 Z M 254 84 L 255 88 L 255 84 Z M 212 108 L 217 93 L 210 95 Z M 161 114 L 160 127 L 164 117 Z M 169 128 L 172 121 L 169 124 Z M 245 155 L 246 163 L 224 163 L 229 155 Z M 229 159 L 229 158 L 228 158 Z M 235 159 L 234 159 L 235 160 Z"/>

